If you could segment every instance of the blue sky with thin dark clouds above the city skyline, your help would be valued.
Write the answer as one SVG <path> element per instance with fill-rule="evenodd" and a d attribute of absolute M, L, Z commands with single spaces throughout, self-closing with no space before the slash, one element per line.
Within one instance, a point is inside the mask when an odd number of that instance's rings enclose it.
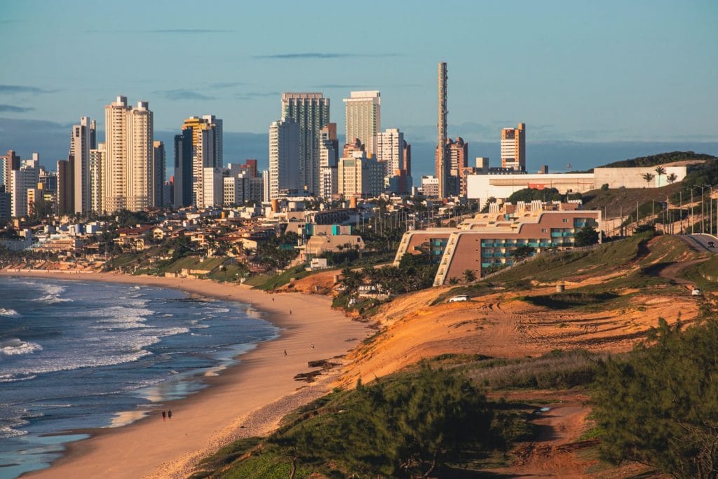
<path fill-rule="evenodd" d="M 342 132 L 342 98 L 380 90 L 382 128 L 404 131 L 430 172 L 445 61 L 449 136 L 470 158 L 496 164 L 500 129 L 519 122 L 530 169 L 718 154 L 717 24 L 715 0 L 2 0 L 0 150 L 54 164 L 69 126 L 104 129 L 123 95 L 149 101 L 159 139 L 211 113 L 225 162 L 266 164 L 281 92 L 323 92 Z"/>

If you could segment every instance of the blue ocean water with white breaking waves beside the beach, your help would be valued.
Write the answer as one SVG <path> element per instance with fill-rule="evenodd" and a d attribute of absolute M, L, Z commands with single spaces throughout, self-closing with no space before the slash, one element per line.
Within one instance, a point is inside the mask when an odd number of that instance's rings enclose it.
<path fill-rule="evenodd" d="M 1 277 L 0 478 L 46 468 L 87 437 L 73 429 L 120 427 L 199 391 L 277 334 L 239 302 Z"/>

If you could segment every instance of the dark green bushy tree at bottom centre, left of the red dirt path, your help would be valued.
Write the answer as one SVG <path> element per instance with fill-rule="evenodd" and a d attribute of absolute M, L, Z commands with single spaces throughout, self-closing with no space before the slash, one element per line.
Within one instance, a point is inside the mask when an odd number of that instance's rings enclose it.
<path fill-rule="evenodd" d="M 341 411 L 300 424 L 276 443 L 299 460 L 324 457 L 345 463 L 360 477 L 429 477 L 467 448 L 485 449 L 493 411 L 473 383 L 452 371 L 422 365 L 397 380 L 358 382 Z"/>

